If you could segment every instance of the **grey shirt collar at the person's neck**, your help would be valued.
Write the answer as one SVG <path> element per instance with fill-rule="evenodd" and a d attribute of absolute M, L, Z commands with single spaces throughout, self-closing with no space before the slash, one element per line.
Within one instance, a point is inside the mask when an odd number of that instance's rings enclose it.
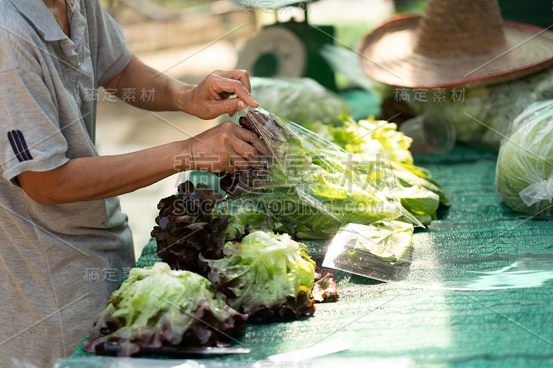
<path fill-rule="evenodd" d="M 44 41 L 59 41 L 60 39 L 67 38 L 42 0 L 10 1 L 35 26 L 35 29 Z"/>

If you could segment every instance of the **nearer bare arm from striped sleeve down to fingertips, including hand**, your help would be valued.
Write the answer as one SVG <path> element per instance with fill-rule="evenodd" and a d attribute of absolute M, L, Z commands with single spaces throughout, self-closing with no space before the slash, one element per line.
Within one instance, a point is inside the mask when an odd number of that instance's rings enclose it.
<path fill-rule="evenodd" d="M 70 159 L 53 170 L 24 171 L 17 180 L 40 204 L 83 202 L 130 193 L 178 171 L 232 173 L 256 162 L 258 153 L 267 151 L 254 133 L 225 122 L 185 141 L 122 155 Z"/>

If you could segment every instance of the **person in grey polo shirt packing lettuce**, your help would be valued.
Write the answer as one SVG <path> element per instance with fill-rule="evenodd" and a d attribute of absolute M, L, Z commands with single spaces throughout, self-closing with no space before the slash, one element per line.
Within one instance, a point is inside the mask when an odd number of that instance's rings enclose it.
<path fill-rule="evenodd" d="M 265 148 L 225 122 L 185 141 L 99 156 L 90 90 L 155 90 L 133 104 L 213 119 L 257 106 L 247 72 L 216 71 L 197 86 L 159 74 L 132 55 L 99 0 L 0 8 L 0 367 L 52 367 L 75 351 L 133 265 L 116 196 L 178 171 L 232 173 Z"/>

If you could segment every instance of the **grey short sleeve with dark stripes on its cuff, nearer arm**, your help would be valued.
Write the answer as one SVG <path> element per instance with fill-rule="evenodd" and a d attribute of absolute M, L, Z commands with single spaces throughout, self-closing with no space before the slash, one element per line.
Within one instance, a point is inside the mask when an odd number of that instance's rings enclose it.
<path fill-rule="evenodd" d="M 48 88 L 39 73 L 14 68 L 0 72 L 0 166 L 3 177 L 48 171 L 68 162 L 67 142 Z"/>

